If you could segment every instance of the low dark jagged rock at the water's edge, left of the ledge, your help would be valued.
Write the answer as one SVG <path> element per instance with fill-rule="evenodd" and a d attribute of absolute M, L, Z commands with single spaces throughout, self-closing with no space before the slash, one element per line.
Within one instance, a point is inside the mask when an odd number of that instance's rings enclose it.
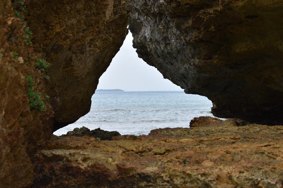
<path fill-rule="evenodd" d="M 66 136 L 76 136 L 76 137 L 82 137 L 82 136 L 90 136 L 94 138 L 99 138 L 100 140 L 111 140 L 113 136 L 120 136 L 121 134 L 118 131 L 106 131 L 101 130 L 100 128 L 89 130 L 87 127 L 80 127 L 80 128 L 74 128 L 72 131 L 68 131 L 66 135 L 52 135 L 51 140 L 60 140 L 63 137 Z"/>

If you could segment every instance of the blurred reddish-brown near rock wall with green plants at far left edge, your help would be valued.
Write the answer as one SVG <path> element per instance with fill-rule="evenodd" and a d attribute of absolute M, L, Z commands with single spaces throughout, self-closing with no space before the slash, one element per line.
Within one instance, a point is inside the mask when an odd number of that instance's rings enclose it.
<path fill-rule="evenodd" d="M 0 187 L 30 187 L 30 157 L 44 149 L 51 135 L 53 117 L 42 73 L 35 69 L 32 47 L 22 37 L 25 26 L 13 12 L 10 0 L 0 1 Z M 14 53 L 18 53 L 15 58 Z M 44 101 L 44 112 L 30 110 L 26 74 Z"/>

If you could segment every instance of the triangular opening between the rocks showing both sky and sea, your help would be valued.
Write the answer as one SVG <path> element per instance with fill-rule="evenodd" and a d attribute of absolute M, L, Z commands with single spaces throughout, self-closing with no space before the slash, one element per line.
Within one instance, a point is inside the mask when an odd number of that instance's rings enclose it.
<path fill-rule="evenodd" d="M 147 135 L 157 128 L 189 127 L 194 117 L 214 117 L 210 112 L 212 102 L 207 97 L 185 94 L 180 86 L 164 79 L 155 67 L 138 57 L 132 40 L 129 32 L 100 77 L 90 112 L 53 134 L 59 136 L 85 126 L 90 130 L 100 127 L 118 131 L 121 135 Z"/>

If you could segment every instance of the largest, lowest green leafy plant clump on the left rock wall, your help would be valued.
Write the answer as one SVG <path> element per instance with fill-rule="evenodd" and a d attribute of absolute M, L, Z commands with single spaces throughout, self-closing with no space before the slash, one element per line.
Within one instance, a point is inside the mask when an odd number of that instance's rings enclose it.
<path fill-rule="evenodd" d="M 27 82 L 29 84 L 29 88 L 27 89 L 27 95 L 29 96 L 29 106 L 31 110 L 39 110 L 43 112 L 46 109 L 43 100 L 39 97 L 39 94 L 34 91 L 33 84 L 34 81 L 30 75 L 27 76 Z"/>

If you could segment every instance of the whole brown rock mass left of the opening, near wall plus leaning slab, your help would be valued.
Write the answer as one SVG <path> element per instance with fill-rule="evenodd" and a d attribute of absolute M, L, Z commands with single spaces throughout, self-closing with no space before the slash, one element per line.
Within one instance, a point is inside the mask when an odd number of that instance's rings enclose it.
<path fill-rule="evenodd" d="M 56 130 L 89 111 L 128 17 L 125 1 L 0 1 L 0 188 L 31 187 L 54 122 Z M 49 80 L 37 59 L 51 64 Z M 30 107 L 28 88 L 45 108 Z"/>

